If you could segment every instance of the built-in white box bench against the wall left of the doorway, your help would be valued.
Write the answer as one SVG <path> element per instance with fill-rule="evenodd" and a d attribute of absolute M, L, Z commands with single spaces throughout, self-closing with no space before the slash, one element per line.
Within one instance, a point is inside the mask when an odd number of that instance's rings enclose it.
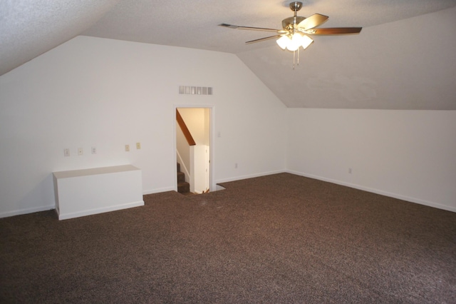
<path fill-rule="evenodd" d="M 59 220 L 144 206 L 142 173 L 131 165 L 53 173 Z"/>

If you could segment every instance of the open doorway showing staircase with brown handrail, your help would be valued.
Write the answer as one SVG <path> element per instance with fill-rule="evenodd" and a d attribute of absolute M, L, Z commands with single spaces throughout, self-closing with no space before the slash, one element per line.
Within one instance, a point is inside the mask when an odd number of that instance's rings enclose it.
<path fill-rule="evenodd" d="M 176 189 L 185 195 L 211 188 L 212 108 L 176 107 Z"/>

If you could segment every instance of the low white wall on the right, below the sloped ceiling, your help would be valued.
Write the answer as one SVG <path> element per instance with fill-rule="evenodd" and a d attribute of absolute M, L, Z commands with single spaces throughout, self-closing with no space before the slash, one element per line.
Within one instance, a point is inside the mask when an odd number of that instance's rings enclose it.
<path fill-rule="evenodd" d="M 456 111 L 289 108 L 288 121 L 290 172 L 456 211 Z"/>

